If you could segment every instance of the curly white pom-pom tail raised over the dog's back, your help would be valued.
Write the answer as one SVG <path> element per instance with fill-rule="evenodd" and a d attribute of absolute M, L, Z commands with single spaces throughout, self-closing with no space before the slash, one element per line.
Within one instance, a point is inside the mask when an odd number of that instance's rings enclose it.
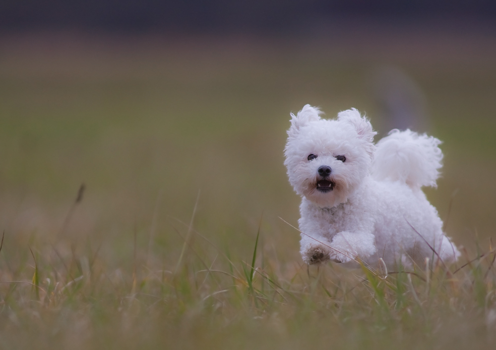
<path fill-rule="evenodd" d="M 377 143 L 372 162 L 372 176 L 378 181 L 401 181 L 412 189 L 436 187 L 441 168 L 441 142 L 409 129 L 391 130 Z"/>

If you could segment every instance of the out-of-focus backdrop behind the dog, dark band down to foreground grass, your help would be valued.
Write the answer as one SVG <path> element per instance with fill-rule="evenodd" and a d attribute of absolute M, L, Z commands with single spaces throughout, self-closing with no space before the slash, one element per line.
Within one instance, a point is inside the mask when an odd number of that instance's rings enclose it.
<path fill-rule="evenodd" d="M 122 266 L 136 235 L 174 263 L 197 203 L 217 246 L 248 260 L 260 228 L 264 250 L 300 263 L 283 149 L 310 103 L 367 113 L 376 140 L 442 140 L 428 197 L 455 243 L 487 249 L 495 62 L 494 1 L 2 0 L 5 247 L 67 241 Z"/>

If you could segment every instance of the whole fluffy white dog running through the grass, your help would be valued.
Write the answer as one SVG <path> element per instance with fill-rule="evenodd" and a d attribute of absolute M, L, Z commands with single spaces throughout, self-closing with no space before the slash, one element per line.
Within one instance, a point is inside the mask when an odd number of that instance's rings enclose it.
<path fill-rule="evenodd" d="M 371 123 L 356 109 L 336 120 L 319 114 L 308 104 L 291 114 L 285 148 L 289 181 L 302 196 L 303 260 L 375 268 L 382 258 L 388 269 L 424 268 L 426 258 L 454 262 L 460 253 L 421 190 L 436 185 L 440 141 L 392 130 L 375 146 Z"/>

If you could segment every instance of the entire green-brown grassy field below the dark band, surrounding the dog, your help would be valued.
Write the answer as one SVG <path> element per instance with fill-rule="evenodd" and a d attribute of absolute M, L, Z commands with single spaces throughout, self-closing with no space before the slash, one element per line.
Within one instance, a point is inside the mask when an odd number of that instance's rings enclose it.
<path fill-rule="evenodd" d="M 494 48 L 1 37 L 0 348 L 493 349 Z M 374 79 L 391 67 L 443 141 L 426 192 L 464 256 L 387 276 L 308 268 L 288 225 L 289 113 L 354 106 L 384 134 Z"/>

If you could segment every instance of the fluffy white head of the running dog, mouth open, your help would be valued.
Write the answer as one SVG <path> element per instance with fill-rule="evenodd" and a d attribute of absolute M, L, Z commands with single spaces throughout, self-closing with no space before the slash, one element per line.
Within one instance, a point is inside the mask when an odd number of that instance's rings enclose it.
<path fill-rule="evenodd" d="M 369 174 L 375 149 L 369 120 L 356 109 L 336 120 L 309 104 L 291 114 L 284 164 L 295 191 L 320 207 L 344 203 Z"/>

